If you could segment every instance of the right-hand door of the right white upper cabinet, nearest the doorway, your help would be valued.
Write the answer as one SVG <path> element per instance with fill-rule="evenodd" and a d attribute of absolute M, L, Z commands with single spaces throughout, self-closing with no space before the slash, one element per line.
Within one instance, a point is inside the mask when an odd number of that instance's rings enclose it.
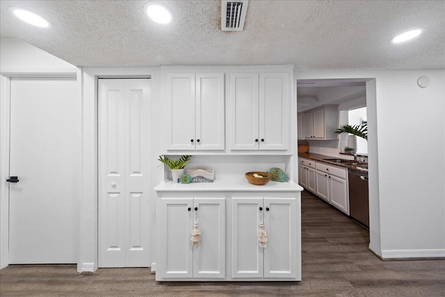
<path fill-rule="evenodd" d="M 259 149 L 289 146 L 289 74 L 259 74 Z"/>

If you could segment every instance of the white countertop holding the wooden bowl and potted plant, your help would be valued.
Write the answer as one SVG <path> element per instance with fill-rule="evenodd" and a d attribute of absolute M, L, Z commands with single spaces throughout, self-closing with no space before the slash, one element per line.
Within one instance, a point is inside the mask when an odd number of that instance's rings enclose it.
<path fill-rule="evenodd" d="M 294 182 L 270 181 L 263 186 L 249 184 L 247 179 L 218 179 L 214 182 L 173 183 L 168 180 L 154 187 L 156 191 L 231 191 L 231 192 L 299 192 L 303 188 Z"/>

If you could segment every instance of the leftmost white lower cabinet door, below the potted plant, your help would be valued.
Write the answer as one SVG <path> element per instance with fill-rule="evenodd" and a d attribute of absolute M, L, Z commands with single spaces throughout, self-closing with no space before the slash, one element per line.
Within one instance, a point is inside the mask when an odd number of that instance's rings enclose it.
<path fill-rule="evenodd" d="M 193 278 L 193 198 L 162 198 L 158 232 L 160 278 Z"/>

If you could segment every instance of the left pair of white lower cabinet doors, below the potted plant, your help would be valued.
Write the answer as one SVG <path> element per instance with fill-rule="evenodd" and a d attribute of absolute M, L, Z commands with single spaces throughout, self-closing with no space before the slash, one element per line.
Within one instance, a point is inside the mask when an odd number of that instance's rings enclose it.
<path fill-rule="evenodd" d="M 225 198 L 162 198 L 156 280 L 225 278 Z M 201 232 L 193 247 L 194 225 Z"/>

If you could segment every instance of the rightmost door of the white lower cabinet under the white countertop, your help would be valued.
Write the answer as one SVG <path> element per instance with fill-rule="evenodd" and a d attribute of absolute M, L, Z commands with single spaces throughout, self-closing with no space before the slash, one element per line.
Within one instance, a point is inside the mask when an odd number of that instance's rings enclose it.
<path fill-rule="evenodd" d="M 296 218 L 296 198 L 264 198 L 264 278 L 296 278 Z"/>

